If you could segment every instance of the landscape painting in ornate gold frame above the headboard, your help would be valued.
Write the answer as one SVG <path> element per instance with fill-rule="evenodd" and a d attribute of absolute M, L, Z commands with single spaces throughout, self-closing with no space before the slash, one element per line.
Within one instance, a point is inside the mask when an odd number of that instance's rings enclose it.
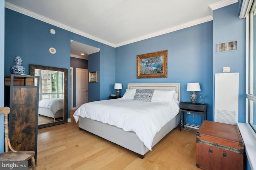
<path fill-rule="evenodd" d="M 167 52 L 137 55 L 137 78 L 166 78 Z"/>

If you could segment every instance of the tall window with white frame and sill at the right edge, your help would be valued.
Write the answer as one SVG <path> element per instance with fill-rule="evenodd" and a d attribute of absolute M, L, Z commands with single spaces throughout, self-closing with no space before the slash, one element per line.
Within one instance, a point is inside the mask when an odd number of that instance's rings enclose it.
<path fill-rule="evenodd" d="M 246 169 L 256 169 L 256 0 L 243 0 L 239 18 L 246 18 L 246 123 L 238 123 L 246 153 Z M 249 164 L 248 164 L 249 163 Z M 250 166 L 250 167 L 249 167 Z"/>

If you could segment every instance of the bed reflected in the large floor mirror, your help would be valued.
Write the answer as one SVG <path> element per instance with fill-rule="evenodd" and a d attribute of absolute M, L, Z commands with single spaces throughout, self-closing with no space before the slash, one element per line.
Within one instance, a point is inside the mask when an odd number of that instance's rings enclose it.
<path fill-rule="evenodd" d="M 56 121 L 56 118 L 63 117 L 63 98 L 43 99 L 38 104 L 38 114 L 51 117 Z"/>

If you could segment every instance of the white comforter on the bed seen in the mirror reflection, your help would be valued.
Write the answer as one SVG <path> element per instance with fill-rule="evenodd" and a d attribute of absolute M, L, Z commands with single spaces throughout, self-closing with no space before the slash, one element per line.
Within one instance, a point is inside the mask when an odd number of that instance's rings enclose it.
<path fill-rule="evenodd" d="M 63 109 L 63 98 L 43 99 L 39 101 L 38 106 L 48 108 L 55 114 L 58 110 Z"/>

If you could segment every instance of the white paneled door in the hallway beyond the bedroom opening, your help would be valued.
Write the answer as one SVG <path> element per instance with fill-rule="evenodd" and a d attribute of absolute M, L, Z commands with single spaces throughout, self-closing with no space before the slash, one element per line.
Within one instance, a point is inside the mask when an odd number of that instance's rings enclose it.
<path fill-rule="evenodd" d="M 88 102 L 88 69 L 76 68 L 76 108 Z"/>

